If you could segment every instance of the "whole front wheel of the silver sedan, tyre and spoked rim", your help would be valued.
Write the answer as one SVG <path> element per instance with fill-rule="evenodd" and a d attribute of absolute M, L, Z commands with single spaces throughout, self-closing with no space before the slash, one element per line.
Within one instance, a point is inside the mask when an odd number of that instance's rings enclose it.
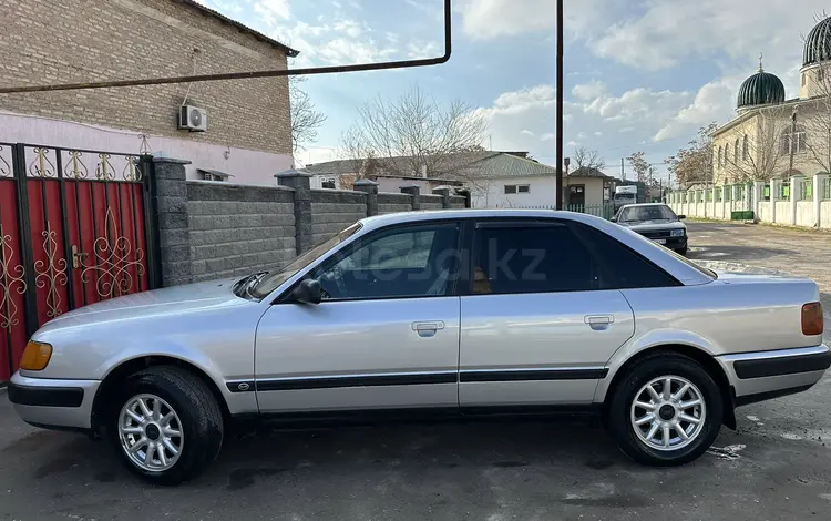
<path fill-rule="evenodd" d="M 122 427 L 131 432 L 122 433 Z M 131 471 L 151 483 L 173 486 L 196 478 L 216 459 L 224 437 L 223 412 L 214 394 L 193 372 L 151 367 L 125 380 L 109 415 L 107 435 Z M 147 443 L 154 446 L 152 450 Z M 133 456 L 131 447 L 137 449 Z"/>

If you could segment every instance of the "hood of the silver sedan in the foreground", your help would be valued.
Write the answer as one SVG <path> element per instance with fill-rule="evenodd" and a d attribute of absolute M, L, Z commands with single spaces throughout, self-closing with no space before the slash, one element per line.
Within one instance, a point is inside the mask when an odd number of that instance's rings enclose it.
<path fill-rule="evenodd" d="M 240 277 L 174 286 L 91 304 L 47 323 L 41 331 L 136 318 L 171 317 L 222 306 L 252 304 L 233 293 Z"/>

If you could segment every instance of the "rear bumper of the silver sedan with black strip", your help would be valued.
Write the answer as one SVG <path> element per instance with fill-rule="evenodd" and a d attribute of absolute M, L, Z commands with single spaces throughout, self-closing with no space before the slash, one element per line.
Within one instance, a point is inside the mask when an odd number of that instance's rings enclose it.
<path fill-rule="evenodd" d="M 736 405 L 810 389 L 831 366 L 825 345 L 716 357 L 733 388 Z"/>

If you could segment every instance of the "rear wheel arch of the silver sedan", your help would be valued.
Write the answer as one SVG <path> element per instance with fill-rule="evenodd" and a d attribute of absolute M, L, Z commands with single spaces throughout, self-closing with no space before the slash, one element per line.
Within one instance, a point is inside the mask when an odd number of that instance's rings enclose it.
<path fill-rule="evenodd" d="M 606 398 L 614 395 L 615 389 L 617 386 L 620 385 L 623 377 L 629 371 L 629 369 L 634 366 L 636 366 L 640 360 L 644 358 L 647 358 L 652 355 L 655 355 L 658 351 L 665 351 L 665 353 L 675 353 L 678 355 L 686 356 L 687 358 L 691 358 L 693 360 L 697 361 L 701 365 L 701 367 L 705 368 L 705 370 L 712 377 L 714 380 L 716 380 L 716 384 L 718 385 L 719 389 L 721 390 L 721 401 L 724 406 L 724 425 L 729 427 L 730 429 L 736 429 L 736 411 L 735 411 L 735 402 L 733 402 L 733 390 L 732 386 L 730 385 L 730 380 L 727 377 L 727 374 L 725 372 L 721 365 L 716 360 L 716 358 L 707 353 L 706 350 L 698 348 L 696 346 L 690 346 L 687 344 L 660 344 L 656 346 L 650 346 L 646 349 L 642 349 L 630 356 L 626 361 L 624 361 L 618 369 L 612 375 L 612 379 L 609 380 L 608 385 L 605 387 L 605 390 L 602 390 L 598 388 L 598 392 L 603 392 L 602 396 L 596 396 L 597 402 L 603 403 L 603 413 L 604 417 L 606 415 L 606 407 L 608 407 L 609 400 Z"/>

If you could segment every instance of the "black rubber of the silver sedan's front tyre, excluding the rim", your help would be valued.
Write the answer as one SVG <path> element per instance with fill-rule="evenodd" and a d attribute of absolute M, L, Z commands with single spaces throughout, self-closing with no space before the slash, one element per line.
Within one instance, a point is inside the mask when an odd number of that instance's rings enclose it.
<path fill-rule="evenodd" d="M 117 450 L 122 462 L 145 480 L 158 484 L 178 484 L 198 474 L 211 463 L 222 446 L 222 426 L 218 432 L 216 426 L 211 426 L 208 418 L 203 418 L 197 411 L 201 410 L 194 403 L 192 397 L 176 385 L 176 372 L 148 369 L 137 372 L 129 378 L 122 387 L 119 398 L 114 401 L 115 407 L 110 416 L 107 432 Z M 174 379 L 172 380 L 173 377 Z M 165 400 L 179 418 L 184 430 L 184 445 L 182 454 L 176 463 L 168 470 L 151 472 L 136 467 L 124 453 L 119 436 L 119 417 L 121 409 L 126 402 L 138 395 L 155 395 Z M 218 437 L 218 441 L 217 441 Z"/>

